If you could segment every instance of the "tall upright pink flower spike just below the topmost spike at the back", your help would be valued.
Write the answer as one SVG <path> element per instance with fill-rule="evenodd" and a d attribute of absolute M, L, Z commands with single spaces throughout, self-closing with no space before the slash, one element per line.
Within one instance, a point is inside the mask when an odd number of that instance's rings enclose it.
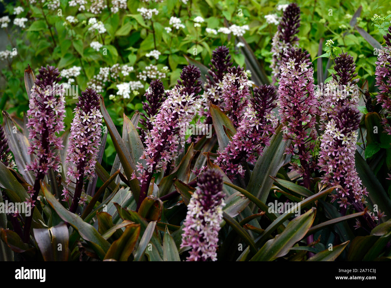
<path fill-rule="evenodd" d="M 311 171 L 316 167 L 311 152 L 317 137 L 315 121 L 317 101 L 314 97 L 314 69 L 307 51 L 287 50 L 281 65 L 280 101 L 283 138 L 292 140 L 285 153 L 298 155 L 300 166 L 292 162 L 292 168 L 303 176 L 304 186 L 310 189 Z"/>

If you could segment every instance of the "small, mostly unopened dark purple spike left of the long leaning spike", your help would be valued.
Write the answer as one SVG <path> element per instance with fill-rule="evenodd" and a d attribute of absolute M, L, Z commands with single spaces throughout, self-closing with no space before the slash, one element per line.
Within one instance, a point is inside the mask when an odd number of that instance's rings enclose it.
<path fill-rule="evenodd" d="M 138 127 L 141 131 L 140 139 L 144 142 L 145 135 L 153 128 L 152 121 L 158 113 L 161 104 L 165 101 L 164 85 L 160 79 L 152 80 L 147 92 L 144 94 L 146 101 L 143 102 L 143 109 L 145 111 L 145 119 L 140 118 L 140 124 L 143 127 Z"/>

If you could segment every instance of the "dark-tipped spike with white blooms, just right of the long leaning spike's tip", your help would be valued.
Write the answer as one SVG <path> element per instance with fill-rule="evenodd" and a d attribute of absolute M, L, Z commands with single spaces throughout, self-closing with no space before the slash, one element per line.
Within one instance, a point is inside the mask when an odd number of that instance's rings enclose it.
<path fill-rule="evenodd" d="M 199 111 L 200 116 L 205 116 L 205 124 L 212 124 L 210 115 L 210 103 L 222 108 L 222 79 L 228 68 L 232 66 L 230 50 L 226 46 L 219 46 L 212 52 L 210 59 L 206 83 L 204 85 L 204 94 L 202 98 L 203 109 Z"/>

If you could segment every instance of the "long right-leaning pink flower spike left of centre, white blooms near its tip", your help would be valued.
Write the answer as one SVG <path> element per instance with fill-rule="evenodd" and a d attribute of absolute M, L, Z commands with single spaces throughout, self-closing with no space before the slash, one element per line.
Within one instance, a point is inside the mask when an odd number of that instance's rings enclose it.
<path fill-rule="evenodd" d="M 147 196 L 154 171 L 164 171 L 167 163 L 175 160 L 185 147 L 185 128 L 192 121 L 199 103 L 200 76 L 198 67 L 184 67 L 180 76 L 182 81 L 178 80 L 178 84 L 170 90 L 156 115 L 151 133 L 145 139 L 146 149 L 140 158 L 145 159 L 147 168 L 138 163 L 139 175 L 133 175 L 141 182 L 137 209 Z"/>

